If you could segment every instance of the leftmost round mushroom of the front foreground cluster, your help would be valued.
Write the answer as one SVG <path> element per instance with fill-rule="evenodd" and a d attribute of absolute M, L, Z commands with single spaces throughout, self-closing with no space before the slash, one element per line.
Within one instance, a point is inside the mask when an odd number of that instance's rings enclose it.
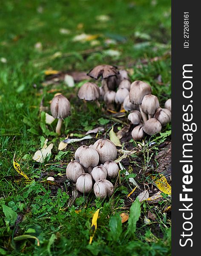
<path fill-rule="evenodd" d="M 84 169 L 78 161 L 72 161 L 66 167 L 66 176 L 68 180 L 76 182 L 78 177 L 83 173 Z"/>

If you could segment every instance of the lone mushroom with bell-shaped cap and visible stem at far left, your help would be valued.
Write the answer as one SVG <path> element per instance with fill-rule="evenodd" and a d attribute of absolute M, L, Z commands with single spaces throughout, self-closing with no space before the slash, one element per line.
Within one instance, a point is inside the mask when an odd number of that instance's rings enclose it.
<path fill-rule="evenodd" d="M 56 118 L 58 119 L 56 133 L 60 134 L 63 119 L 71 115 L 70 102 L 65 96 L 63 96 L 62 94 L 59 94 L 52 99 L 50 110 L 51 110 L 52 116 L 55 119 Z"/>

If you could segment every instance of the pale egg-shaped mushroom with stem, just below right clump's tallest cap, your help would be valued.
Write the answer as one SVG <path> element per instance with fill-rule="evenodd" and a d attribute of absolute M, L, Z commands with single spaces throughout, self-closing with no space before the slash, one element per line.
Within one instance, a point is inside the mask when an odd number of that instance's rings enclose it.
<path fill-rule="evenodd" d="M 156 109 L 160 107 L 158 98 L 155 95 L 147 94 L 142 100 L 142 111 L 148 114 L 149 119 L 155 113 Z"/>

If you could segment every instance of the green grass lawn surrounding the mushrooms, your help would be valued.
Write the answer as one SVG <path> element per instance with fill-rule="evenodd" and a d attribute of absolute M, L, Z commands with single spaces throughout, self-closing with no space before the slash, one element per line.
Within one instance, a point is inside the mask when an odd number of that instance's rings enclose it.
<path fill-rule="evenodd" d="M 132 80 L 149 82 L 163 106 L 171 93 L 170 10 L 167 0 L 8 0 L 1 3 L 0 254 L 170 255 L 170 220 L 162 211 L 169 204 L 165 196 L 161 205 L 142 203 L 136 232 L 129 230 L 127 222 L 123 223 L 122 231 L 112 229 L 112 220 L 118 222 L 119 214 L 129 212 L 132 203 L 126 195 L 133 187 L 124 177 L 124 171 L 121 172 L 122 184 L 118 184 L 112 198 L 99 201 L 90 193 L 77 198 L 69 207 L 72 185 L 68 181 L 52 193 L 51 184 L 40 182 L 45 181 L 45 177 L 38 180 L 44 172 L 52 171 L 65 177 L 65 167 L 78 147 L 78 143 L 74 143 L 64 153 L 58 152 L 58 144 L 67 134 L 84 134 L 100 125 L 107 129 L 116 124 L 95 105 L 89 105 L 87 111 L 83 108 L 83 103 L 76 97 L 79 84 L 70 89 L 64 83 L 44 87 L 44 70 L 88 71 L 102 63 L 129 68 L 133 70 Z M 98 15 L 107 15 L 109 20 L 100 22 Z M 69 34 L 60 33 L 60 29 L 69 29 Z M 72 41 L 75 35 L 82 33 L 98 35 L 99 44 L 92 46 L 91 41 Z M 115 40 L 116 44 L 108 45 L 106 39 Z M 41 43 L 42 49 L 34 47 L 37 42 Z M 109 55 L 107 50 L 111 49 L 120 55 Z M 72 116 L 65 120 L 61 137 L 54 135 L 55 122 L 46 128 L 43 113 L 39 116 L 40 101 L 44 97 L 44 106 L 49 106 L 48 102 L 55 94 L 49 93 L 52 88 L 65 94 L 73 106 Z M 105 119 L 109 120 L 109 126 L 104 124 Z M 118 126 L 122 127 L 122 124 Z M 49 139 L 48 143 L 54 143 L 48 162 L 51 165 L 37 165 L 32 160 L 44 138 Z M 152 168 L 150 160 L 154 159 L 157 146 L 166 140 L 166 136 L 152 140 L 156 143 L 153 148 L 147 141 L 140 151 L 144 170 Z M 31 184 L 16 183 L 6 177 L 14 180 L 17 175 L 12 165 L 15 151 L 21 169 L 35 179 Z M 135 162 L 135 157 L 131 157 L 131 162 Z M 146 175 L 140 180 L 142 184 L 150 181 Z M 133 193 L 133 200 L 135 198 Z M 3 205 L 9 207 L 10 215 L 5 215 Z M 98 228 L 89 245 L 92 214 L 99 208 Z M 144 223 L 149 210 L 157 215 L 155 224 Z M 18 218 L 20 214 L 24 216 L 19 224 L 14 223 L 16 213 Z M 114 233 L 118 232 L 120 235 L 115 237 Z M 14 239 L 23 234 L 37 237 L 40 246 L 36 239 Z"/>

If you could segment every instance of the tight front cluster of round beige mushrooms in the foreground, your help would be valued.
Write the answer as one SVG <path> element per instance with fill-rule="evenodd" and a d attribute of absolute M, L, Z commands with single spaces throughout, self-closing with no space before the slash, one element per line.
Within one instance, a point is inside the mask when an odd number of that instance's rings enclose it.
<path fill-rule="evenodd" d="M 89 146 L 82 145 L 75 151 L 75 160 L 66 167 L 67 179 L 75 182 L 81 193 L 89 193 L 93 187 L 97 198 L 106 198 L 114 190 L 107 178 L 113 179 L 119 172 L 114 161 L 116 157 L 117 148 L 108 139 L 97 140 Z"/>

